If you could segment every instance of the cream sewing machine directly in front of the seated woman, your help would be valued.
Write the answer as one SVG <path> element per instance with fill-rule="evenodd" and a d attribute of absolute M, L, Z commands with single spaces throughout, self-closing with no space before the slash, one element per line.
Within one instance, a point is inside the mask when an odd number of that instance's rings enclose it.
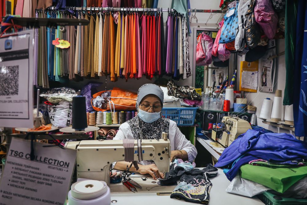
<path fill-rule="evenodd" d="M 171 145 L 162 134 L 160 140 L 142 140 L 142 159 L 153 160 L 164 175 L 169 172 Z M 77 150 L 77 177 L 105 181 L 110 184 L 112 162 L 125 160 L 123 140 L 82 140 L 67 142 L 66 148 Z M 138 140 L 134 140 L 134 160 L 138 158 Z"/>

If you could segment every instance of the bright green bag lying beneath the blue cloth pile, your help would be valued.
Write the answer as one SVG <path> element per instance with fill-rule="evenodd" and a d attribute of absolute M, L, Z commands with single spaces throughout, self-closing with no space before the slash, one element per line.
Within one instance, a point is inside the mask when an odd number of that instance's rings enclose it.
<path fill-rule="evenodd" d="M 283 193 L 307 175 L 307 166 L 297 168 L 268 168 L 246 164 L 241 166 L 241 177 Z"/>

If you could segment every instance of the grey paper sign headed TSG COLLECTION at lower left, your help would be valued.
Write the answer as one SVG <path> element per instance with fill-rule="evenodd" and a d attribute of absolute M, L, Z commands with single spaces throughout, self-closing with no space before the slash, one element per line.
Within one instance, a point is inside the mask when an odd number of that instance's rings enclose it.
<path fill-rule="evenodd" d="M 64 204 L 76 150 L 44 145 L 34 143 L 34 160 L 30 160 L 30 141 L 12 139 L 1 177 L 1 204 Z"/>

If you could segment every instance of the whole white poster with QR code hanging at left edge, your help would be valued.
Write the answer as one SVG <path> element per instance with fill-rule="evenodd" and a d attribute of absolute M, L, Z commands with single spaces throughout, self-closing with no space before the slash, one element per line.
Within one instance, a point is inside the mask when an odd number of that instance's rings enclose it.
<path fill-rule="evenodd" d="M 33 128 L 34 31 L 0 38 L 0 127 Z"/>

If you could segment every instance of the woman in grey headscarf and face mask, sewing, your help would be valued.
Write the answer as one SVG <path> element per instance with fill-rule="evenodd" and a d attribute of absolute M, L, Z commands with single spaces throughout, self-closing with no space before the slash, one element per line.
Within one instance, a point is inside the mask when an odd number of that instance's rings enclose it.
<path fill-rule="evenodd" d="M 138 89 L 138 98 L 136 108 L 138 115 L 123 123 L 119 127 L 114 140 L 127 139 L 161 139 L 162 132 L 169 133 L 171 143 L 171 161 L 175 158 L 184 161 L 193 161 L 196 157 L 196 148 L 180 132 L 177 124 L 173 120 L 162 118 L 161 109 L 163 106 L 163 91 L 154 84 L 145 84 Z M 130 162 L 117 162 L 115 169 L 126 170 Z M 152 160 L 138 162 L 139 169 L 134 166 L 131 171 L 137 171 L 140 174 L 150 174 L 154 180 L 163 178 L 157 166 Z"/>

